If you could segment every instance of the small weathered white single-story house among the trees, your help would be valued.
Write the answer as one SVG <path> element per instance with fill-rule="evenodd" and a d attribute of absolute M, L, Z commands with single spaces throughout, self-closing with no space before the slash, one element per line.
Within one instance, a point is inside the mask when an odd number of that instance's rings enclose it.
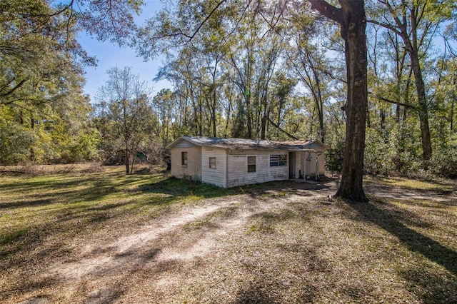
<path fill-rule="evenodd" d="M 328 147 L 320 141 L 181 136 L 167 148 L 171 176 L 230 188 L 323 176 Z"/>

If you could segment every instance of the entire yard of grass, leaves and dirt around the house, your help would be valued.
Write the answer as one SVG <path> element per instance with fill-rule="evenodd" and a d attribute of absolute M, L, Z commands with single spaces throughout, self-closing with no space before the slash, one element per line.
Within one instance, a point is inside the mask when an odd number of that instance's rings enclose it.
<path fill-rule="evenodd" d="M 366 177 L 352 204 L 331 178 L 3 169 L 0 302 L 457 303 L 456 181 Z"/>

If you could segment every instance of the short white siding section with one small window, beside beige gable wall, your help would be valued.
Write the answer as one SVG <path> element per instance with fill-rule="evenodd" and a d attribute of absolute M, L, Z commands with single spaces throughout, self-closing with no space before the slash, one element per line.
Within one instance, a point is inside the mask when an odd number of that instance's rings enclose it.
<path fill-rule="evenodd" d="M 216 158 L 216 168 L 209 168 L 209 158 Z M 221 148 L 202 148 L 201 181 L 226 188 L 226 151 Z"/>

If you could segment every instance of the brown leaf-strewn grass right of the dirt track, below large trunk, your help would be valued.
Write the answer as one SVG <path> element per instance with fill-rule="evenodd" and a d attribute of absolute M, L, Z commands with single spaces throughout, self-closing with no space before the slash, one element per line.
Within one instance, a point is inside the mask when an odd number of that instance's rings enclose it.
<path fill-rule="evenodd" d="M 408 210 L 288 203 L 260 213 L 208 256 L 179 295 L 189 303 L 456 303 L 453 227 L 416 230 Z M 449 221 L 455 213 L 442 215 Z M 415 221 L 432 224 L 423 214 Z M 423 226 L 423 225 L 422 225 Z M 440 234 L 438 241 L 433 237 Z"/>

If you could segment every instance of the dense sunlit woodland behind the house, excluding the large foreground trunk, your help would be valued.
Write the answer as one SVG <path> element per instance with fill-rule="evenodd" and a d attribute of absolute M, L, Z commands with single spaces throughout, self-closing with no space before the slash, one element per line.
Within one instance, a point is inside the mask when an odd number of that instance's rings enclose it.
<path fill-rule="evenodd" d="M 67 1 L 68 2 L 68 1 Z M 0 2 L 0 164 L 163 161 L 183 134 L 318 139 L 340 171 L 346 64 L 336 24 L 308 1 L 164 1 L 134 23 L 139 0 Z M 454 1 L 366 1 L 364 171 L 457 176 Z M 96 64 L 80 31 L 164 57 L 152 95 L 112 67 L 94 100 Z M 427 135 L 428 134 L 428 135 Z M 427 137 L 428 136 L 428 137 Z"/>

